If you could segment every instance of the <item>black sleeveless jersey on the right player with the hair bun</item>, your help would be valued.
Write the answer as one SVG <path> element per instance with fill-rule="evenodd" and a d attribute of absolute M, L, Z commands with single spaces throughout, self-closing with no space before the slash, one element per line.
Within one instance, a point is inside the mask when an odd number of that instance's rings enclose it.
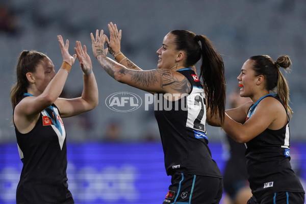
<path fill-rule="evenodd" d="M 282 103 L 275 94 L 265 95 L 250 107 L 247 119 L 252 116 L 258 103 L 265 97 L 273 97 Z M 248 141 L 246 146 L 248 181 L 257 201 L 265 195 L 279 191 L 304 192 L 290 165 L 289 120 L 279 130 L 266 129 Z"/>

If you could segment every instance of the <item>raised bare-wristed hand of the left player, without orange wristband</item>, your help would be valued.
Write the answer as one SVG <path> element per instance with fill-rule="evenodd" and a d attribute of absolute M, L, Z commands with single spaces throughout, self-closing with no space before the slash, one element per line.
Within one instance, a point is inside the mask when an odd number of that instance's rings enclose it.
<path fill-rule="evenodd" d="M 77 41 L 77 47 L 74 47 L 74 52 L 77 54 L 83 73 L 85 75 L 90 74 L 92 72 L 92 63 L 89 55 L 87 54 L 86 46 L 84 45 L 84 49 L 82 49 L 81 42 Z"/>

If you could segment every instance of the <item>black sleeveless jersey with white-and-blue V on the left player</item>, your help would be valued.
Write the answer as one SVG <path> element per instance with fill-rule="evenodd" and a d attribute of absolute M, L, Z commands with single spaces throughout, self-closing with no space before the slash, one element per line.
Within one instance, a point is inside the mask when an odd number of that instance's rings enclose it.
<path fill-rule="evenodd" d="M 43 110 L 29 133 L 21 134 L 16 127 L 15 132 L 23 162 L 16 202 L 74 203 L 67 184 L 66 132 L 57 107 Z"/>

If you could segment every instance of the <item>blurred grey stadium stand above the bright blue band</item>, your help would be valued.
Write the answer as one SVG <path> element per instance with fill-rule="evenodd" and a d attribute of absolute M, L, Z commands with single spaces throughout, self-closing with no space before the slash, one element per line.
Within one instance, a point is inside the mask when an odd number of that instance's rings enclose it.
<path fill-rule="evenodd" d="M 186 29 L 208 36 L 223 56 L 228 93 L 237 86 L 236 78 L 248 57 L 267 54 L 276 60 L 279 55 L 289 55 L 293 62 L 292 72 L 287 75 L 294 111 L 291 135 L 293 140 L 306 139 L 305 1 L 10 0 L 1 1 L 0 5 L 9 11 L 14 24 L 14 32 L 4 27 L 0 30 L 1 142 L 15 141 L 9 91 L 15 82 L 14 68 L 20 52 L 23 49 L 43 52 L 58 70 L 62 61 L 56 38 L 59 34 L 69 39 L 70 53 L 76 40 L 87 45 L 99 88 L 99 106 L 86 115 L 91 117 L 89 128 L 83 128 L 86 124 L 80 119 L 82 115 L 64 119 L 69 141 L 104 140 L 110 118 L 121 121 L 122 140 L 142 141 L 146 136 L 159 140 L 152 112 L 144 111 L 144 107 L 129 113 L 114 112 L 105 104 L 107 96 L 115 92 L 132 92 L 142 98 L 145 94 L 115 82 L 92 56 L 89 34 L 96 29 L 104 29 L 108 34 L 110 21 L 122 29 L 122 52 L 143 69 L 156 68 L 156 50 L 169 31 Z M 80 94 L 82 86 L 82 72 L 76 61 L 64 88 L 66 96 Z M 210 140 L 220 139 L 219 129 L 211 127 L 208 131 Z"/>

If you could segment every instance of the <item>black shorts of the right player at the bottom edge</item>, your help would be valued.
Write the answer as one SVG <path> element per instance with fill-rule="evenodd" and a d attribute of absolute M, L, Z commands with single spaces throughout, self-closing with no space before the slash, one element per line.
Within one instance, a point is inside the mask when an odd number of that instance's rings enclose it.
<path fill-rule="evenodd" d="M 247 204 L 304 204 L 305 193 L 277 192 L 265 196 L 260 202 L 252 196 Z"/>

